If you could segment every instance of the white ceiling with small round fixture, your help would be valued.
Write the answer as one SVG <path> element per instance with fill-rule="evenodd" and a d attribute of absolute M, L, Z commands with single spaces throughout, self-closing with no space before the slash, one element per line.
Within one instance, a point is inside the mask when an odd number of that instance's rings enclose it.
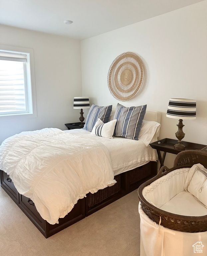
<path fill-rule="evenodd" d="M 201 1 L 0 0 L 0 23 L 86 39 Z"/>

